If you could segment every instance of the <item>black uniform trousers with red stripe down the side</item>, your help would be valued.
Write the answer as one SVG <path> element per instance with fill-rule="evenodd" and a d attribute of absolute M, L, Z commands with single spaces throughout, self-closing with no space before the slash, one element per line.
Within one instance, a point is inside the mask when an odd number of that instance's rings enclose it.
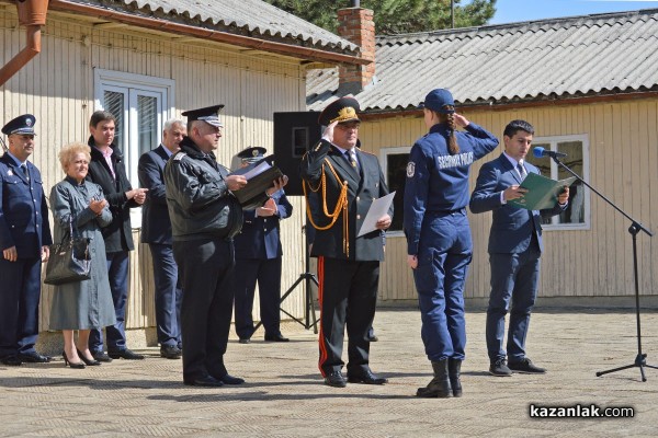
<path fill-rule="evenodd" d="M 363 374 L 368 367 L 367 333 L 375 318 L 379 262 L 318 257 L 320 301 L 320 360 L 322 376 L 340 371 L 345 327 L 348 374 Z"/>

